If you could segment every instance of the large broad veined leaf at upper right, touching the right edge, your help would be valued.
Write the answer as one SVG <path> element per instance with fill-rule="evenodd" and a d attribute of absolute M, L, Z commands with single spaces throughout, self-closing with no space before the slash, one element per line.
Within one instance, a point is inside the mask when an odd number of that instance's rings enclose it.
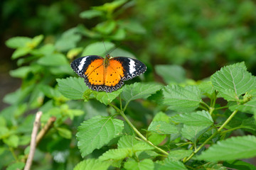
<path fill-rule="evenodd" d="M 221 68 L 210 77 L 210 81 L 227 101 L 237 101 L 242 94 L 256 86 L 256 78 L 245 68 L 235 65 Z"/>

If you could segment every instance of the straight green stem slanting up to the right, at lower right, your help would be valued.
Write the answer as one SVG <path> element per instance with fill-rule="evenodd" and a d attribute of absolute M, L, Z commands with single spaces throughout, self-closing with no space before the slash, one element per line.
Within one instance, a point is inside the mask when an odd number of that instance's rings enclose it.
<path fill-rule="evenodd" d="M 217 135 L 225 127 L 225 125 L 227 125 L 230 122 L 230 120 L 235 116 L 236 113 L 238 113 L 238 110 L 233 111 L 233 113 L 228 117 L 228 119 L 225 120 L 225 123 L 223 123 L 223 125 L 221 125 L 220 128 L 217 131 L 215 131 L 213 135 L 211 135 L 205 142 L 203 142 L 203 144 L 200 147 L 198 147 L 198 149 L 196 149 L 187 159 L 184 159 L 183 162 L 188 162 L 188 160 L 191 159 L 197 152 L 199 152 L 204 147 L 204 145 L 206 145 L 210 140 L 212 140 L 213 137 L 215 137 L 215 135 Z"/>

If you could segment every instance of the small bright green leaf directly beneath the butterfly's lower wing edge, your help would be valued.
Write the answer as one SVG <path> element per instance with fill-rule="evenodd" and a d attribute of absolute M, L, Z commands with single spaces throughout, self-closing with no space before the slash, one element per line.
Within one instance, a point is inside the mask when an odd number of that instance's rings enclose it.
<path fill-rule="evenodd" d="M 93 91 L 92 94 L 95 96 L 97 101 L 104 103 L 105 105 L 109 105 L 114 98 L 117 98 L 119 94 L 122 92 L 122 89 L 118 89 L 117 91 L 112 91 L 111 93 L 107 93 L 105 91 Z"/>

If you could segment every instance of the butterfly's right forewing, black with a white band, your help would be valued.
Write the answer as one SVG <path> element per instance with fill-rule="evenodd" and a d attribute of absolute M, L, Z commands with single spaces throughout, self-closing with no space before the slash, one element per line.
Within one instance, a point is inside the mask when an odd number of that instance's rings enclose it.
<path fill-rule="evenodd" d="M 122 65 L 122 71 L 118 69 L 122 73 L 120 74 L 122 81 L 132 79 L 146 72 L 146 65 L 139 60 L 129 57 L 114 57 L 111 60 L 117 61 Z"/>

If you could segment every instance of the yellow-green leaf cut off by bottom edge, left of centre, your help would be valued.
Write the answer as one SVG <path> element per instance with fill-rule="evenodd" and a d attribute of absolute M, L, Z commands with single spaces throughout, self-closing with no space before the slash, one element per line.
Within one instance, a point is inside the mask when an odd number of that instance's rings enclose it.
<path fill-rule="evenodd" d="M 110 162 L 101 162 L 99 159 L 86 159 L 77 164 L 74 170 L 107 170 Z"/>

